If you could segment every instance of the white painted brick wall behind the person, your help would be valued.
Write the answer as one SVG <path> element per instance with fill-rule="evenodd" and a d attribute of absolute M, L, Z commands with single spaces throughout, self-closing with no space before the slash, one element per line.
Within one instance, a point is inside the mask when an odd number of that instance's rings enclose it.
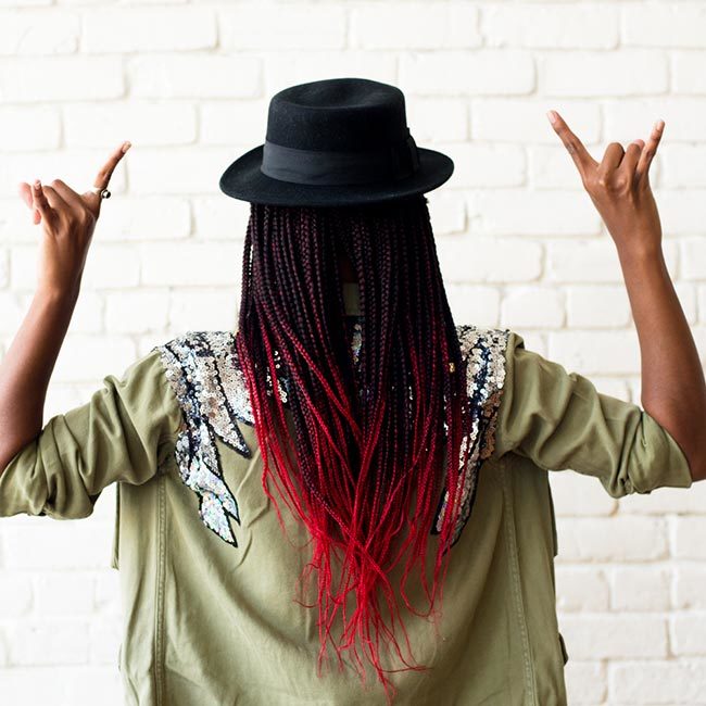
<path fill-rule="evenodd" d="M 264 27 L 267 26 L 265 30 Z M 134 143 L 89 253 L 46 417 L 187 329 L 237 319 L 249 204 L 223 169 L 262 143 L 269 97 L 365 76 L 399 85 L 417 143 L 456 169 L 429 193 L 458 322 L 640 399 L 615 247 L 545 117 L 600 157 L 666 131 L 652 168 L 668 267 L 706 352 L 706 2 L 0 0 L 0 353 L 36 282 L 20 180 L 88 186 Z M 610 355 L 605 355 L 610 351 Z M 569 703 L 706 703 L 706 483 L 610 497 L 551 476 Z M 93 516 L 0 524 L 2 703 L 122 704 L 109 568 L 114 488 Z"/>

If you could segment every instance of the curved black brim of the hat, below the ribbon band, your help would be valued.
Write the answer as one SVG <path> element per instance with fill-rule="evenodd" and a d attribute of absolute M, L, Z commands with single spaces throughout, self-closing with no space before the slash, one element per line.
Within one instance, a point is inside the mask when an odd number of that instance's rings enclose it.
<path fill-rule="evenodd" d="M 251 203 L 273 205 L 337 206 L 378 203 L 426 193 L 440 187 L 454 171 L 452 159 L 436 150 L 418 147 L 419 168 L 409 177 L 394 181 L 318 186 L 273 179 L 260 171 L 264 144 L 232 162 L 220 176 L 220 190 Z"/>

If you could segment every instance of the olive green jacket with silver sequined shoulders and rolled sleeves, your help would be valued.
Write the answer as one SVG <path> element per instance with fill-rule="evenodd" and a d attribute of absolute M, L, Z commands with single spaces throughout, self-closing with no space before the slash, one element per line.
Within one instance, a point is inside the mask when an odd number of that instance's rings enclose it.
<path fill-rule="evenodd" d="M 354 318 L 356 301 L 346 295 L 346 305 Z M 645 411 L 526 350 L 517 332 L 457 330 L 478 411 L 475 502 L 468 515 L 474 487 L 465 488 L 439 639 L 400 603 L 414 659 L 430 669 L 390 675 L 394 704 L 560 706 L 568 655 L 547 471 L 595 476 L 620 497 L 689 488 L 689 465 Z M 316 610 L 294 602 L 311 557 L 291 541 L 304 547 L 307 537 L 282 512 L 283 539 L 263 492 L 232 337 L 178 336 L 52 417 L 0 476 L 0 516 L 86 517 L 117 481 L 112 566 L 123 593 L 126 704 L 384 704 L 374 678 L 363 691 L 335 656 L 316 675 Z M 421 589 L 407 585 L 407 596 L 426 607 Z"/>

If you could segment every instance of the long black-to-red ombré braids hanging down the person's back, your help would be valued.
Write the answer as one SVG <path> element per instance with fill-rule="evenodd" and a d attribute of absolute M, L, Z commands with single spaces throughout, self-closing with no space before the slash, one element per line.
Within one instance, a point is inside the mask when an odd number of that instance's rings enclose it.
<path fill-rule="evenodd" d="M 357 366 L 344 325 L 341 260 L 351 263 L 358 285 Z M 465 362 L 426 197 L 355 206 L 251 203 L 236 346 L 262 450 L 263 489 L 282 530 L 270 480 L 313 543 L 305 571 L 315 569 L 318 578 L 319 675 L 341 610 L 342 635 L 333 642 L 339 668 L 344 650 L 362 665 L 360 638 L 390 699 L 386 672 L 428 667 L 402 657 L 388 573 L 406 556 L 399 589 L 407 608 L 426 617 L 437 592 L 441 602 L 450 555 L 444 547 L 468 458 L 462 446 L 470 426 Z M 444 487 L 444 520 L 432 532 Z M 419 613 L 405 584 L 415 565 L 426 564 L 431 533 L 439 540 L 431 592 L 420 573 L 429 610 Z M 336 566 L 340 583 L 333 585 Z M 382 619 L 378 590 L 391 626 Z M 351 591 L 355 607 L 346 615 Z M 405 668 L 382 668 L 380 636 Z"/>

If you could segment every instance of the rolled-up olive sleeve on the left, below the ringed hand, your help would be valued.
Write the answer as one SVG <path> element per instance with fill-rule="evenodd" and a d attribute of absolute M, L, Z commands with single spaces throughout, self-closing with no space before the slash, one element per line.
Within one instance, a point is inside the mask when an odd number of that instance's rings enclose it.
<path fill-rule="evenodd" d="M 114 481 L 141 484 L 174 449 L 181 413 L 159 352 L 109 375 L 90 400 L 60 414 L 0 475 L 0 517 L 88 517 Z"/>

